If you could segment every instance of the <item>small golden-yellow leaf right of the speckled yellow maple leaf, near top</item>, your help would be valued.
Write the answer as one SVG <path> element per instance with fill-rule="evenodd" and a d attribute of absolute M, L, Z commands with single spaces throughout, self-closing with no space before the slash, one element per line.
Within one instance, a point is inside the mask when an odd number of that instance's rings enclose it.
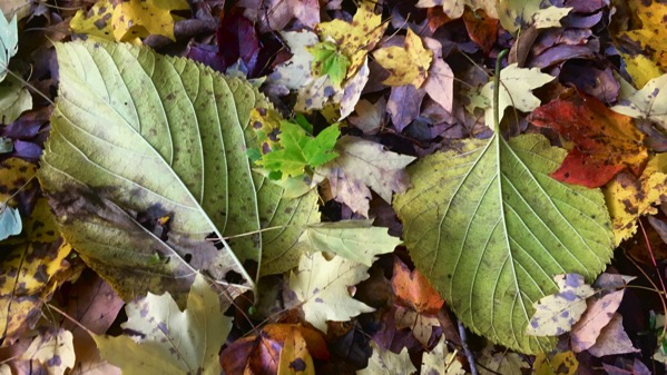
<path fill-rule="evenodd" d="M 404 47 L 386 47 L 373 53 L 375 60 L 391 72 L 384 85 L 414 85 L 420 88 L 426 79 L 433 52 L 424 48 L 421 38 L 408 29 Z"/>

